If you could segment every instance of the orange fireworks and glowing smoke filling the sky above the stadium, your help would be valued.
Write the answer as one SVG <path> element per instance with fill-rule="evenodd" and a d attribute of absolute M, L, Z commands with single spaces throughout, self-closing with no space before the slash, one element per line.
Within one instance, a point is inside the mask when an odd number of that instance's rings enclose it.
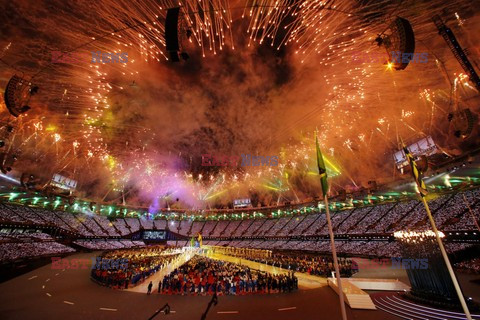
<path fill-rule="evenodd" d="M 468 29 L 469 20 L 460 19 L 467 3 L 434 1 L 410 11 L 391 1 L 119 0 L 75 9 L 54 1 L 65 14 L 48 19 L 41 8 L 19 5 L 39 40 L 1 38 L 0 56 L 35 61 L 13 67 L 33 75 L 40 92 L 28 114 L 3 114 L 2 128 L 16 128 L 9 143 L 22 154 L 19 170 L 48 163 L 46 177 L 64 170 L 80 189 L 93 190 L 88 196 L 117 190 L 134 200 L 180 198 L 198 207 L 254 193 L 265 203 L 311 198 L 318 185 L 315 128 L 332 172 L 357 185 L 386 167 L 377 155 L 391 153 L 397 136 L 430 132 L 449 111 L 439 60 L 402 74 L 378 61 L 353 62 L 354 52 L 380 53 L 372 43 L 388 25 L 385 12 L 408 17 L 426 39 L 435 32 L 431 9 L 440 4 L 455 6 L 458 24 Z M 164 23 L 175 6 L 192 64 L 167 61 Z M 128 62 L 51 64 L 51 51 L 38 47 L 126 52 Z M 270 49 L 267 59 L 261 50 Z M 7 69 L 3 74 L 17 72 Z M 452 79 L 455 103 L 475 94 L 464 74 Z M 276 168 L 199 171 L 202 152 L 283 156 Z"/>

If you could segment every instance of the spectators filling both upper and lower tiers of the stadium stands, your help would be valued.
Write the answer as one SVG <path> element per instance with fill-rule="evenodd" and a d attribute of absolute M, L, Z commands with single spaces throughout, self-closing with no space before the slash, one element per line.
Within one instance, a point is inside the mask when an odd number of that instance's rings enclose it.
<path fill-rule="evenodd" d="M 480 189 L 446 194 L 430 200 L 429 204 L 437 227 L 441 231 L 476 230 L 473 215 L 477 218 L 480 207 Z M 469 212 L 468 206 L 471 208 Z M 330 244 L 325 239 L 300 240 L 298 238 L 284 238 L 280 240 L 263 240 L 248 237 L 264 236 L 304 236 L 327 235 L 328 228 L 325 214 L 319 214 L 315 208 L 309 208 L 309 214 L 282 217 L 279 219 L 261 218 L 225 221 L 167 221 L 148 220 L 145 218 L 125 217 L 110 219 L 96 214 L 84 214 L 47 210 L 42 208 L 21 206 L 12 203 L 0 203 L 0 222 L 5 221 L 22 224 L 23 226 L 58 227 L 80 238 L 74 241 L 75 245 L 91 250 L 115 250 L 131 247 L 143 247 L 142 241 L 118 239 L 119 236 L 128 236 L 140 228 L 168 228 L 181 235 L 196 235 L 202 231 L 204 244 L 235 246 L 244 248 L 259 248 L 267 250 L 298 250 L 329 253 Z M 305 212 L 306 210 L 297 210 Z M 391 202 L 375 206 L 367 206 L 342 211 L 332 211 L 332 223 L 336 234 L 369 234 L 385 233 L 397 230 L 425 230 L 430 229 L 422 204 L 417 200 Z M 62 234 L 62 232 L 58 232 Z M 53 234 L 53 233 L 52 233 Z M 209 235 L 235 237 L 234 240 L 208 240 Z M 82 240 L 92 236 L 101 236 L 100 240 Z M 110 239 L 107 239 L 111 237 Z M 115 239 L 112 239 L 116 237 Z M 58 240 L 58 239 L 57 239 Z M 0 235 L 0 250 L 6 252 L 1 261 L 22 258 L 25 256 L 48 255 L 50 253 L 70 252 L 74 249 L 55 243 L 52 236 L 43 233 L 27 237 L 16 235 Z M 27 244 L 15 244 L 24 243 Z M 34 244 L 35 242 L 48 242 Z M 188 240 L 169 241 L 169 245 L 186 246 Z M 17 247 L 32 246 L 28 255 L 15 253 Z M 51 249 L 48 249 L 48 247 Z M 449 252 L 463 250 L 470 244 L 448 243 Z M 76 246 L 75 246 L 76 247 Z M 336 241 L 337 251 L 344 255 L 392 257 L 399 256 L 399 247 L 395 242 L 386 241 Z M 23 250 L 23 249 L 22 249 Z M 8 253 L 7 253 L 8 252 Z M 9 260 L 9 261 L 10 261 Z"/>

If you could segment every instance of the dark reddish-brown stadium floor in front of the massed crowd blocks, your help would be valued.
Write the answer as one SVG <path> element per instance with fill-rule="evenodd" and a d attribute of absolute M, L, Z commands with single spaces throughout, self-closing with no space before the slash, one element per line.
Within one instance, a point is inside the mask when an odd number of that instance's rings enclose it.
<path fill-rule="evenodd" d="M 70 258 L 90 259 L 95 253 Z M 114 290 L 90 280 L 89 269 L 54 270 L 46 265 L 0 284 L 0 314 L 9 319 L 149 319 L 165 303 L 169 315 L 155 319 L 200 319 L 209 296 L 159 295 Z M 352 310 L 349 319 L 399 319 L 383 311 Z M 285 294 L 219 296 L 207 319 L 340 319 L 337 295 L 327 286 Z"/>

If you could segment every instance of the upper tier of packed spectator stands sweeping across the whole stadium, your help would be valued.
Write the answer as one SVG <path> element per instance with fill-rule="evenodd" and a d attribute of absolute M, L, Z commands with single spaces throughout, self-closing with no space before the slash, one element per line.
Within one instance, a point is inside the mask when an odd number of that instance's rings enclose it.
<path fill-rule="evenodd" d="M 472 215 L 478 211 L 480 189 L 442 195 L 429 201 L 430 208 L 442 231 L 475 229 Z M 309 207 L 310 208 L 310 207 Z M 311 209 L 311 208 L 310 208 Z M 303 210 L 305 211 L 305 210 Z M 302 210 L 297 210 L 297 213 Z M 204 236 L 289 236 L 289 235 L 326 235 L 328 228 L 325 215 L 313 208 L 307 215 L 283 218 L 262 218 L 233 221 L 167 221 L 146 218 L 124 217 L 107 219 L 96 214 L 71 214 L 63 211 L 51 211 L 42 208 L 0 203 L 0 221 L 28 223 L 34 225 L 57 226 L 81 236 L 125 236 L 140 228 L 168 228 L 182 235 Z M 478 217 L 478 213 L 477 217 Z M 417 200 L 385 203 L 375 206 L 332 211 L 332 224 L 338 234 L 385 233 L 398 230 L 425 230 L 428 221 L 421 203 Z"/>

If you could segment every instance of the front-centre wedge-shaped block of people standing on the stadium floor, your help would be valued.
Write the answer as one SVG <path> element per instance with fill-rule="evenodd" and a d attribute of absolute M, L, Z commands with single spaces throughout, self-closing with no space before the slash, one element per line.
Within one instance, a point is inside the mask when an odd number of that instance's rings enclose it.
<path fill-rule="evenodd" d="M 158 286 L 163 294 L 243 295 L 291 292 L 298 288 L 293 273 L 272 275 L 230 262 L 194 256 L 165 275 Z"/>

